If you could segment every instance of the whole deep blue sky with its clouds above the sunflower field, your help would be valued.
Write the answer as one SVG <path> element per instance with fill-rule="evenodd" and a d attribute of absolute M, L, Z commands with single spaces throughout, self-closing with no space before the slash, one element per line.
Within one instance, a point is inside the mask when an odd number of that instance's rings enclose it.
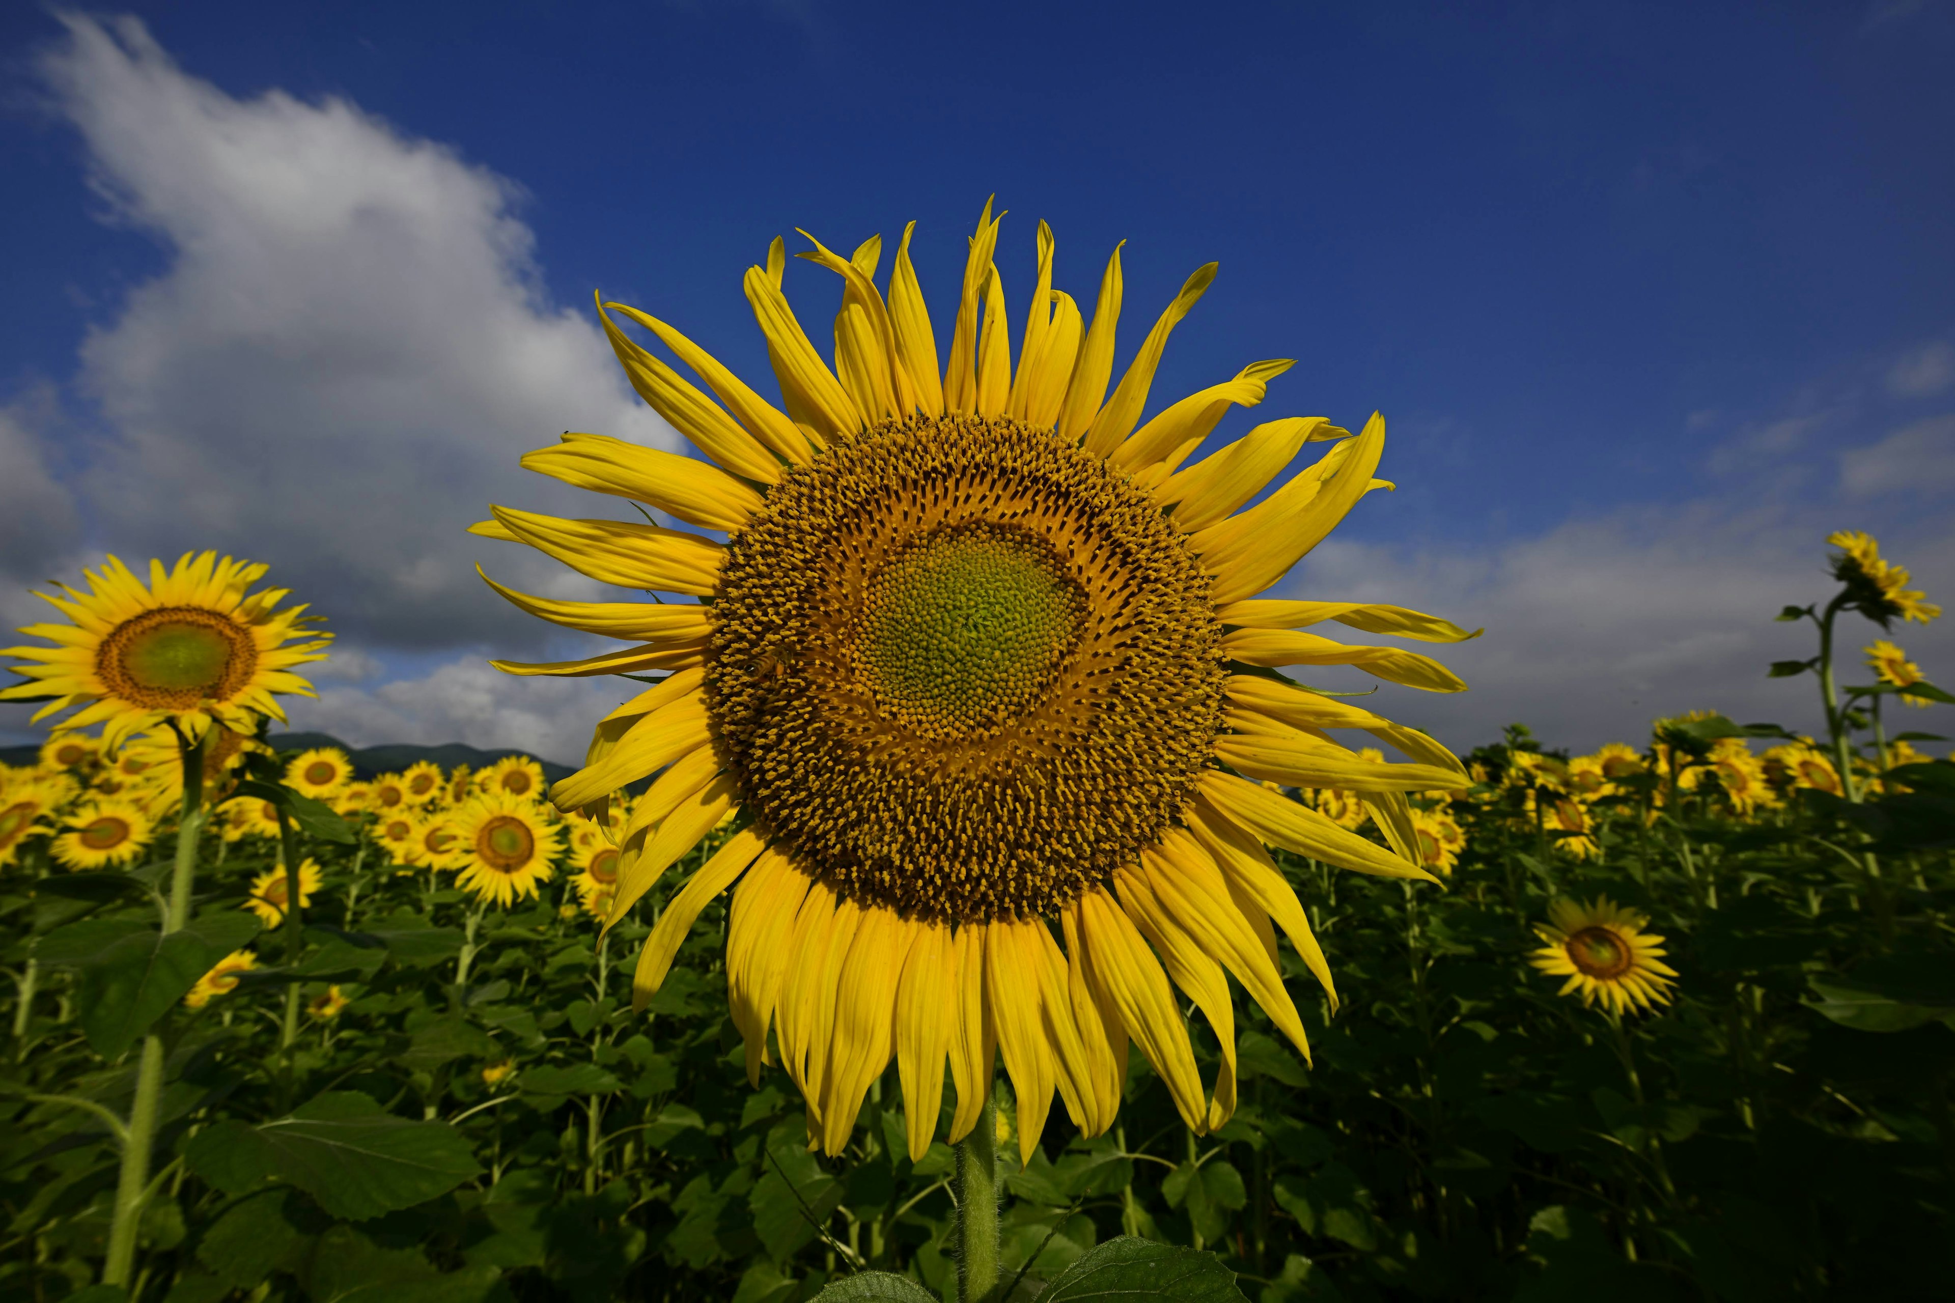
<path fill-rule="evenodd" d="M 1386 414 L 1398 492 L 1290 588 L 1488 625 L 1474 692 L 1380 701 L 1456 746 L 1810 727 L 1760 674 L 1832 527 L 1955 596 L 1947 4 L 137 4 L 12 8 L 0 59 L 0 615 L 246 551 L 340 631 L 295 719 L 350 740 L 575 758 L 616 695 L 481 670 L 543 647 L 469 561 L 561 580 L 459 535 L 571 506 L 514 469 L 557 430 L 665 438 L 592 287 L 764 377 L 766 240 L 915 219 L 942 338 L 993 191 L 1015 316 L 1038 219 L 1087 301 L 1128 240 L 1122 365 L 1222 264 L 1155 406 L 1296 357 L 1224 438 Z"/>

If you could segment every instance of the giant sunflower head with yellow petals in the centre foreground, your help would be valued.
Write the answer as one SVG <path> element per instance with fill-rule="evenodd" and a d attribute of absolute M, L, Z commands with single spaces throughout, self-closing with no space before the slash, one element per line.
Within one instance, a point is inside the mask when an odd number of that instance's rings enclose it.
<path fill-rule="evenodd" d="M 628 643 L 569 664 L 499 666 L 667 672 L 598 725 L 586 768 L 553 799 L 602 809 L 657 776 L 620 830 L 606 928 L 739 813 L 665 906 L 633 996 L 657 990 L 702 906 L 731 889 L 729 1002 L 749 1074 L 759 1080 L 778 1047 L 827 1153 L 848 1141 L 891 1059 L 913 1155 L 931 1143 L 946 1067 L 956 1141 L 981 1115 L 999 1055 L 1024 1153 L 1054 1092 L 1097 1135 L 1114 1119 L 1130 1043 L 1206 1131 L 1236 1104 L 1228 977 L 1298 1051 L 1277 928 L 1335 998 L 1265 846 L 1431 879 L 1406 793 L 1466 785 L 1425 735 L 1269 668 L 1355 664 L 1458 692 L 1425 656 L 1300 629 L 1470 635 L 1402 608 L 1257 598 L 1384 486 L 1372 477 L 1384 420 L 1359 436 L 1316 416 L 1273 420 L 1189 463 L 1230 406 L 1261 402 L 1290 367 L 1257 361 L 1142 422 L 1167 336 L 1214 264 L 1187 279 L 1116 379 L 1118 250 L 1087 320 L 1052 289 L 1040 223 L 1015 346 L 985 205 L 940 363 L 911 231 L 888 291 L 874 281 L 880 238 L 848 258 L 819 242 L 802 254 L 841 277 L 833 369 L 782 295 L 780 240 L 747 272 L 786 410 L 667 322 L 600 303 L 631 385 L 704 459 L 567 434 L 524 465 L 727 541 L 493 508 L 475 527 L 485 537 L 620 588 L 710 600 L 571 604 L 497 586 L 534 615 Z M 612 311 L 712 397 L 631 342 Z M 1306 443 L 1327 445 L 1324 457 L 1288 475 Z M 1365 762 L 1325 729 L 1365 731 L 1412 764 Z M 1361 793 L 1390 848 L 1261 779 Z M 1222 1045 L 1210 1088 L 1181 998 Z"/>

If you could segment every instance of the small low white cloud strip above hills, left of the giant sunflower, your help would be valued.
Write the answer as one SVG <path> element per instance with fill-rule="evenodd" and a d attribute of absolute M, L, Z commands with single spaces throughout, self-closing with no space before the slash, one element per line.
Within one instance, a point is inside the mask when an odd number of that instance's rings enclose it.
<path fill-rule="evenodd" d="M 643 692 L 622 678 L 510 678 L 479 656 L 461 656 L 420 678 L 377 688 L 319 682 L 319 697 L 291 697 L 293 729 L 330 733 L 350 746 L 467 742 L 516 746 L 579 764 L 590 727 Z"/>

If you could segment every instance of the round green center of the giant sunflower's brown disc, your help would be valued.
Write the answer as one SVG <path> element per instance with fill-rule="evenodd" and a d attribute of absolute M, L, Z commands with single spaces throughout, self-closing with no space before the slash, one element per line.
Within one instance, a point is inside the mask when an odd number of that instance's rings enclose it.
<path fill-rule="evenodd" d="M 856 654 L 880 705 L 925 735 L 1003 723 L 1079 631 L 1050 545 L 1009 527 L 940 531 L 870 582 Z"/>

